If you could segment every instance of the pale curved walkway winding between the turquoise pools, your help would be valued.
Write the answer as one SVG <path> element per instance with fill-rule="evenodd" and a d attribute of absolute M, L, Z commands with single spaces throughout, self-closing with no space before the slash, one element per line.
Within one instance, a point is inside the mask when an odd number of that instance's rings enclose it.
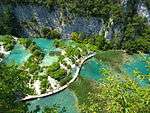
<path fill-rule="evenodd" d="M 32 99 L 36 99 L 36 98 L 42 98 L 42 97 L 50 96 L 50 95 L 56 94 L 56 93 L 58 93 L 58 92 L 60 92 L 60 91 L 63 91 L 63 90 L 66 89 L 72 82 L 74 82 L 74 81 L 76 80 L 76 78 L 77 78 L 78 75 L 79 75 L 79 72 L 80 72 L 80 70 L 81 70 L 81 67 L 82 67 L 83 63 L 84 63 L 86 60 L 90 59 L 91 57 L 93 57 L 93 56 L 95 56 L 95 55 L 96 55 L 96 53 L 92 53 L 92 54 L 90 54 L 90 55 L 88 55 L 88 56 L 86 56 L 86 57 L 84 57 L 84 58 L 81 59 L 81 63 L 79 64 L 79 66 L 76 66 L 76 67 L 75 67 L 75 68 L 76 68 L 76 72 L 74 73 L 73 78 L 72 78 L 66 85 L 64 85 L 64 86 L 62 86 L 62 87 L 60 87 L 60 88 L 58 88 L 58 89 L 56 89 L 56 90 L 53 90 L 53 91 L 50 91 L 50 92 L 47 92 L 47 93 L 44 93 L 44 94 L 41 94 L 41 95 L 28 95 L 28 96 L 26 96 L 25 98 L 23 98 L 23 99 L 21 99 L 21 100 L 22 100 L 22 101 L 25 101 L 25 100 L 32 100 Z"/>

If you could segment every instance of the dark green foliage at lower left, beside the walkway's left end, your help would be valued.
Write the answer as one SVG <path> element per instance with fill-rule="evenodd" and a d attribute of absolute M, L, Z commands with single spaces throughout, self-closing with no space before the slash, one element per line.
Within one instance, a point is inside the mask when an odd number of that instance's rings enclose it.
<path fill-rule="evenodd" d="M 14 65 L 0 64 L 0 111 L 3 113 L 26 113 L 26 105 L 15 102 L 17 98 L 30 94 L 27 83 L 29 75 Z"/>

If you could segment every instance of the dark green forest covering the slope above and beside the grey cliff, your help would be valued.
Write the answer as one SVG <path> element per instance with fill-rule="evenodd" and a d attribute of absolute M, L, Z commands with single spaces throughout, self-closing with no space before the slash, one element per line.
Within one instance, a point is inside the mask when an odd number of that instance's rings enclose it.
<path fill-rule="evenodd" d="M 137 51 L 148 53 L 150 50 L 150 26 L 148 24 L 147 18 L 142 17 L 138 14 L 138 6 L 144 3 L 147 7 L 149 7 L 149 1 L 127 0 L 125 4 L 123 4 L 122 2 L 123 1 L 121 0 L 68 0 L 67 2 L 65 0 L 6 0 L 3 1 L 2 4 L 9 4 L 10 6 L 1 14 L 0 34 L 22 36 L 20 23 L 12 12 L 13 6 L 18 4 L 36 4 L 43 5 L 48 8 L 58 7 L 64 13 L 67 10 L 70 13 L 77 14 L 79 16 L 85 16 L 87 18 L 102 18 L 104 21 L 104 27 L 101 34 L 99 34 L 99 36 L 88 36 L 88 43 L 97 45 L 97 43 L 95 43 L 95 40 L 104 41 L 105 38 L 107 38 L 105 36 L 106 31 L 109 31 L 109 29 L 111 29 L 113 32 L 111 40 L 107 41 L 105 49 L 126 49 L 130 53 Z M 118 26 L 119 31 L 114 31 L 115 27 Z M 53 36 L 54 33 L 47 34 L 49 36 Z M 81 37 L 87 40 L 87 37 L 82 36 L 84 33 L 78 34 L 80 34 Z M 101 42 L 98 43 L 98 46 L 101 46 L 100 44 Z"/>

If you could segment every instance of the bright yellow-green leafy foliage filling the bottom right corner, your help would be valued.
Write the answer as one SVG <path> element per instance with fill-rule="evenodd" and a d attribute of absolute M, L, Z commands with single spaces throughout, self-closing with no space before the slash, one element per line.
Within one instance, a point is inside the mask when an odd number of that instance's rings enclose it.
<path fill-rule="evenodd" d="M 150 89 L 141 87 L 128 76 L 107 75 L 88 93 L 82 113 L 148 113 Z"/>

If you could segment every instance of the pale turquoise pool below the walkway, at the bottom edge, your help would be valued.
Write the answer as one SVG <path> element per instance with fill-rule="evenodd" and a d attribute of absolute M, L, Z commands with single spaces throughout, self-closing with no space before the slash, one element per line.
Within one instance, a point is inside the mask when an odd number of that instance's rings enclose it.
<path fill-rule="evenodd" d="M 29 101 L 29 103 L 29 110 L 34 111 L 36 106 L 40 107 L 41 110 L 37 113 L 42 113 L 45 107 L 52 107 L 55 104 L 60 107 L 60 111 L 62 111 L 64 107 L 66 110 L 65 113 L 79 113 L 77 108 L 77 97 L 69 89 L 49 97 Z"/>

